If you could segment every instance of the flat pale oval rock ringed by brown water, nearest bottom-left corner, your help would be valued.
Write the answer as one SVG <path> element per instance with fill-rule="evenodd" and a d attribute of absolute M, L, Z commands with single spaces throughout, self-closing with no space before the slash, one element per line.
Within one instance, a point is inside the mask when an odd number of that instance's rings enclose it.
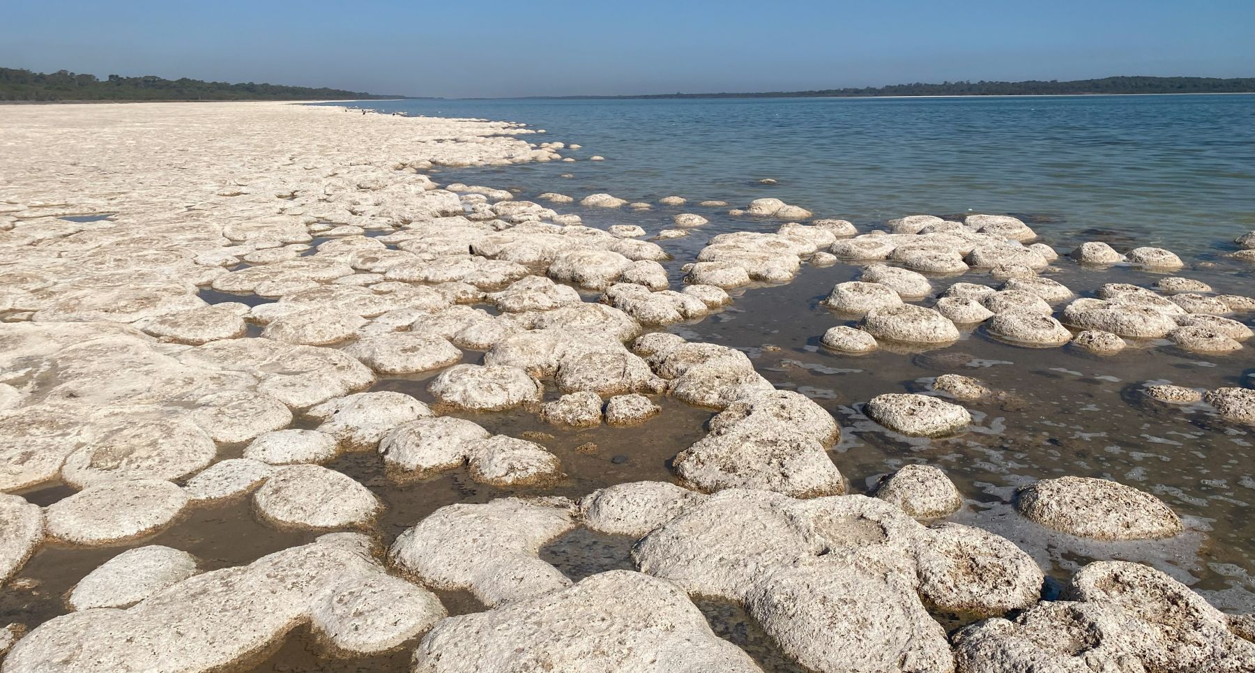
<path fill-rule="evenodd" d="M 196 557 L 186 551 L 151 545 L 109 559 L 70 591 L 69 606 L 129 608 L 197 573 Z"/>

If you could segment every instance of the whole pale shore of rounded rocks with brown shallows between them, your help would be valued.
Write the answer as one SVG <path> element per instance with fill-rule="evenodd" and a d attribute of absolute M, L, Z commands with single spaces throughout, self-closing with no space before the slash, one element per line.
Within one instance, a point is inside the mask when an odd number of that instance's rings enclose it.
<path fill-rule="evenodd" d="M 1205 600 L 1255 593 L 1200 569 L 1250 557 L 1242 486 L 1160 448 L 1241 465 L 1237 259 L 1060 255 L 1003 215 L 466 185 L 597 148 L 326 103 L 0 108 L 0 506 L 21 524 L 0 579 L 40 588 L 6 668 L 207 669 L 284 642 L 389 670 L 670 647 L 745 673 L 1013 644 L 1072 665 L 1004 619 L 1083 628 L 1038 605 L 1047 576 L 1123 620 L 1104 638 L 1187 604 L 1206 630 L 1156 625 L 1147 652 L 1255 657 Z M 93 546 L 154 544 L 166 580 L 100 590 L 138 570 Z M 841 637 L 798 635 L 820 629 Z"/>

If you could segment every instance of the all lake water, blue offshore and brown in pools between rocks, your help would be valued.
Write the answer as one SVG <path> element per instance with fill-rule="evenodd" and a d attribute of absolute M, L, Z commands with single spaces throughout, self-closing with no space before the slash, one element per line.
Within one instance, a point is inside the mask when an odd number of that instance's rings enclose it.
<path fill-rule="evenodd" d="M 371 103 L 388 109 L 385 105 L 390 104 Z M 720 105 L 737 116 L 717 123 L 715 108 Z M 551 191 L 576 198 L 605 191 L 634 201 L 675 193 L 694 203 L 722 198 L 744 206 L 750 198 L 776 196 L 820 216 L 852 220 L 860 231 L 889 217 L 915 212 L 961 216 L 973 207 L 1022 217 L 1060 252 L 1084 240 L 1104 240 L 1119 249 L 1162 245 L 1186 260 L 1186 269 L 1173 275 L 1202 280 L 1217 293 L 1255 294 L 1251 265 L 1224 257 L 1234 249 L 1229 241 L 1236 234 L 1255 229 L 1255 161 L 1244 163 L 1255 159 L 1255 138 L 1249 123 L 1241 129 L 1232 124 L 1235 116 L 1250 121 L 1255 97 L 788 102 L 774 113 L 764 105 L 771 103 L 405 102 L 395 108 L 530 122 L 550 131 L 532 138 L 537 142 L 576 142 L 585 146 L 584 157 L 607 157 L 606 162 L 434 171 L 433 180 L 442 185 L 511 188 L 516 198 L 527 200 Z M 768 123 L 777 117 L 781 124 L 796 123 L 788 119 L 833 116 L 835 110 L 851 119 L 840 126 L 840 133 L 827 127 L 813 129 L 822 142 L 782 139 Z M 661 117 L 655 118 L 655 113 Z M 619 122 L 611 123 L 609 118 L 615 116 Z M 910 122 L 914 131 L 877 139 L 872 127 L 890 124 L 876 121 L 880 117 L 897 118 L 900 126 Z M 994 137 L 974 144 L 973 138 L 981 133 L 973 124 L 981 119 L 993 124 Z M 1158 122 L 1146 127 L 1148 119 Z M 563 121 L 570 124 L 561 126 Z M 1007 156 L 1023 134 L 1042 133 L 1047 122 L 1058 137 L 1015 147 L 1014 156 Z M 1194 129 L 1191 138 L 1199 147 L 1188 149 L 1188 138 L 1176 133 L 1185 127 Z M 1148 134 L 1133 131 L 1138 128 L 1150 128 Z M 1112 137 L 1099 139 L 1108 134 Z M 816 149 L 816 143 L 822 149 Z M 729 147 L 743 148 L 739 158 L 725 156 Z M 853 151 L 856 147 L 875 147 L 876 153 L 870 157 Z M 892 161 L 873 168 L 877 157 Z M 1137 163 L 1145 163 L 1146 171 L 1127 175 L 1126 168 Z M 1168 164 L 1176 164 L 1180 173 L 1156 173 L 1168 171 Z M 828 178 L 822 177 L 823 171 L 831 171 Z M 574 177 L 561 177 L 563 173 Z M 758 185 L 762 177 L 781 183 Z M 675 213 L 708 217 L 710 223 L 692 230 L 690 236 L 660 241 L 673 256 L 664 262 L 673 288 L 680 286 L 683 265 L 693 261 L 710 236 L 774 231 L 781 223 L 733 217 L 727 207 L 694 203 L 655 203 L 643 212 L 546 205 L 579 213 L 590 226 L 635 223 L 650 235 L 670 229 Z M 940 349 L 882 348 L 861 357 L 828 352 L 820 345 L 823 331 L 853 321 L 831 313 L 820 300 L 832 285 L 855 279 L 858 271 L 852 264 L 806 265 L 789 284 L 735 290 L 733 304 L 723 310 L 666 330 L 738 348 L 774 385 L 801 392 L 831 412 L 842 431 L 831 457 L 851 492 L 868 492 L 880 476 L 907 463 L 944 470 L 965 498 L 964 509 L 950 520 L 991 530 L 1033 555 L 1048 575 L 1044 598 L 1053 598 L 1079 566 L 1122 559 L 1171 574 L 1224 610 L 1255 611 L 1255 429 L 1222 422 L 1206 406 L 1158 404 L 1140 392 L 1147 383 L 1168 382 L 1207 389 L 1255 387 L 1251 344 L 1227 355 L 1201 355 L 1173 349 L 1167 342 L 1147 342 L 1132 343 L 1113 357 L 1096 357 L 1069 347 L 1010 345 L 978 328 Z M 1106 283 L 1148 286 L 1162 277 L 1127 266 L 1084 269 L 1065 257 L 1043 275 L 1081 296 L 1092 296 Z M 976 272 L 931 280 L 934 294 L 956 281 L 999 285 Z M 582 294 L 589 301 L 597 298 L 596 293 Z M 266 301 L 211 290 L 203 290 L 202 296 L 211 303 Z M 931 300 L 924 304 L 931 305 Z M 1252 324 L 1255 316 L 1235 318 Z M 482 359 L 479 352 L 464 355 L 463 362 Z M 946 373 L 979 378 L 999 393 L 963 403 L 975 423 L 961 434 L 909 438 L 862 414 L 862 406 L 880 393 L 926 392 L 931 379 Z M 430 378 L 382 378 L 373 389 L 400 390 L 432 402 L 427 392 Z M 546 399 L 556 397 L 550 387 Z M 523 411 L 456 413 L 491 432 L 536 441 L 557 455 L 569 476 L 547 488 L 494 488 L 473 482 L 464 470 L 424 481 L 398 481 L 374 452 L 349 453 L 329 467 L 350 475 L 384 501 L 375 535 L 385 547 L 407 527 L 454 502 L 541 493 L 576 498 L 614 483 L 674 480 L 671 458 L 705 434 L 704 426 L 714 412 L 671 398 L 656 402 L 663 414 L 631 428 L 567 429 Z M 222 457 L 238 451 L 226 450 Z M 1186 531 L 1161 541 L 1084 541 L 1015 514 L 1012 501 L 1018 487 L 1064 475 L 1113 478 L 1155 493 L 1182 516 Z M 48 505 L 72 492 L 51 485 L 24 496 Z M 65 594 L 74 584 L 124 549 L 166 544 L 195 554 L 205 569 L 216 569 L 246 564 L 312 537 L 315 534 L 260 522 L 242 500 L 193 509 L 176 526 L 124 546 L 69 550 L 45 545 L 18 581 L 0 594 L 0 624 L 20 622 L 34 628 L 63 614 Z M 546 546 L 542 557 L 579 580 L 633 568 L 631 544 L 626 537 L 577 529 Z M 441 598 L 452 614 L 482 609 L 466 594 Z M 697 603 L 712 628 L 745 648 L 764 670 L 801 670 L 738 606 L 702 598 Z M 960 615 L 935 616 L 948 629 L 966 623 Z M 297 629 L 241 669 L 402 672 L 409 669 L 409 649 L 365 659 L 329 659 L 306 629 Z"/>

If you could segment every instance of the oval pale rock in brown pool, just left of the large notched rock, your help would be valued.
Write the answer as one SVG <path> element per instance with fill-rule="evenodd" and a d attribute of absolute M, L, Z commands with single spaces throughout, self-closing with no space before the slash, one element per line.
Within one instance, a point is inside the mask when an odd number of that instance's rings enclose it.
<path fill-rule="evenodd" d="M 316 465 L 276 468 L 252 503 L 267 521 L 300 529 L 364 526 L 383 510 L 365 486 Z"/>

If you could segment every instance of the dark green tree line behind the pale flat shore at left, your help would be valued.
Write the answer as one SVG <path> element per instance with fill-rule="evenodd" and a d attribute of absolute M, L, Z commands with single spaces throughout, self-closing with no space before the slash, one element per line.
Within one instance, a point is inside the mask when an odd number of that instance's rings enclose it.
<path fill-rule="evenodd" d="M 0 100 L 360 100 L 404 98 L 344 89 L 231 84 L 200 79 L 163 79 L 153 75 L 95 75 L 58 70 L 34 73 L 0 68 Z"/>

